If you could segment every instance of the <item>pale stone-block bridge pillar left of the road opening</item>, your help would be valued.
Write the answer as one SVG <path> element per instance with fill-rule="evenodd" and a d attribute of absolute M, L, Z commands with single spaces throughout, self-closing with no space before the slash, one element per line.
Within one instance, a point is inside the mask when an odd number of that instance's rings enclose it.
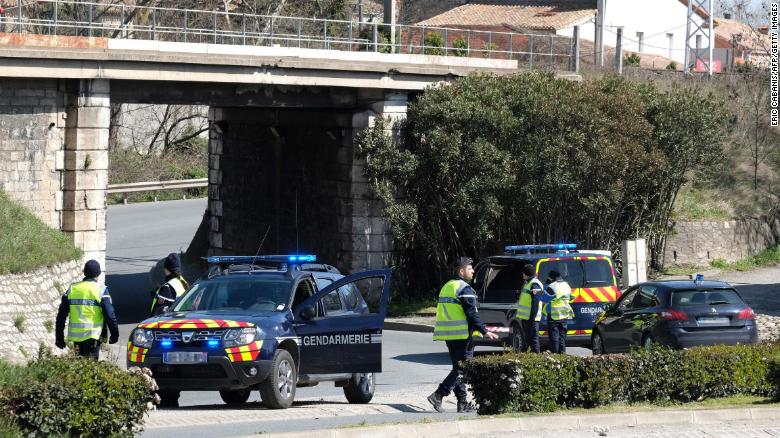
<path fill-rule="evenodd" d="M 106 187 L 110 85 L 105 79 L 72 84 L 65 120 L 62 231 L 105 269 Z"/>

